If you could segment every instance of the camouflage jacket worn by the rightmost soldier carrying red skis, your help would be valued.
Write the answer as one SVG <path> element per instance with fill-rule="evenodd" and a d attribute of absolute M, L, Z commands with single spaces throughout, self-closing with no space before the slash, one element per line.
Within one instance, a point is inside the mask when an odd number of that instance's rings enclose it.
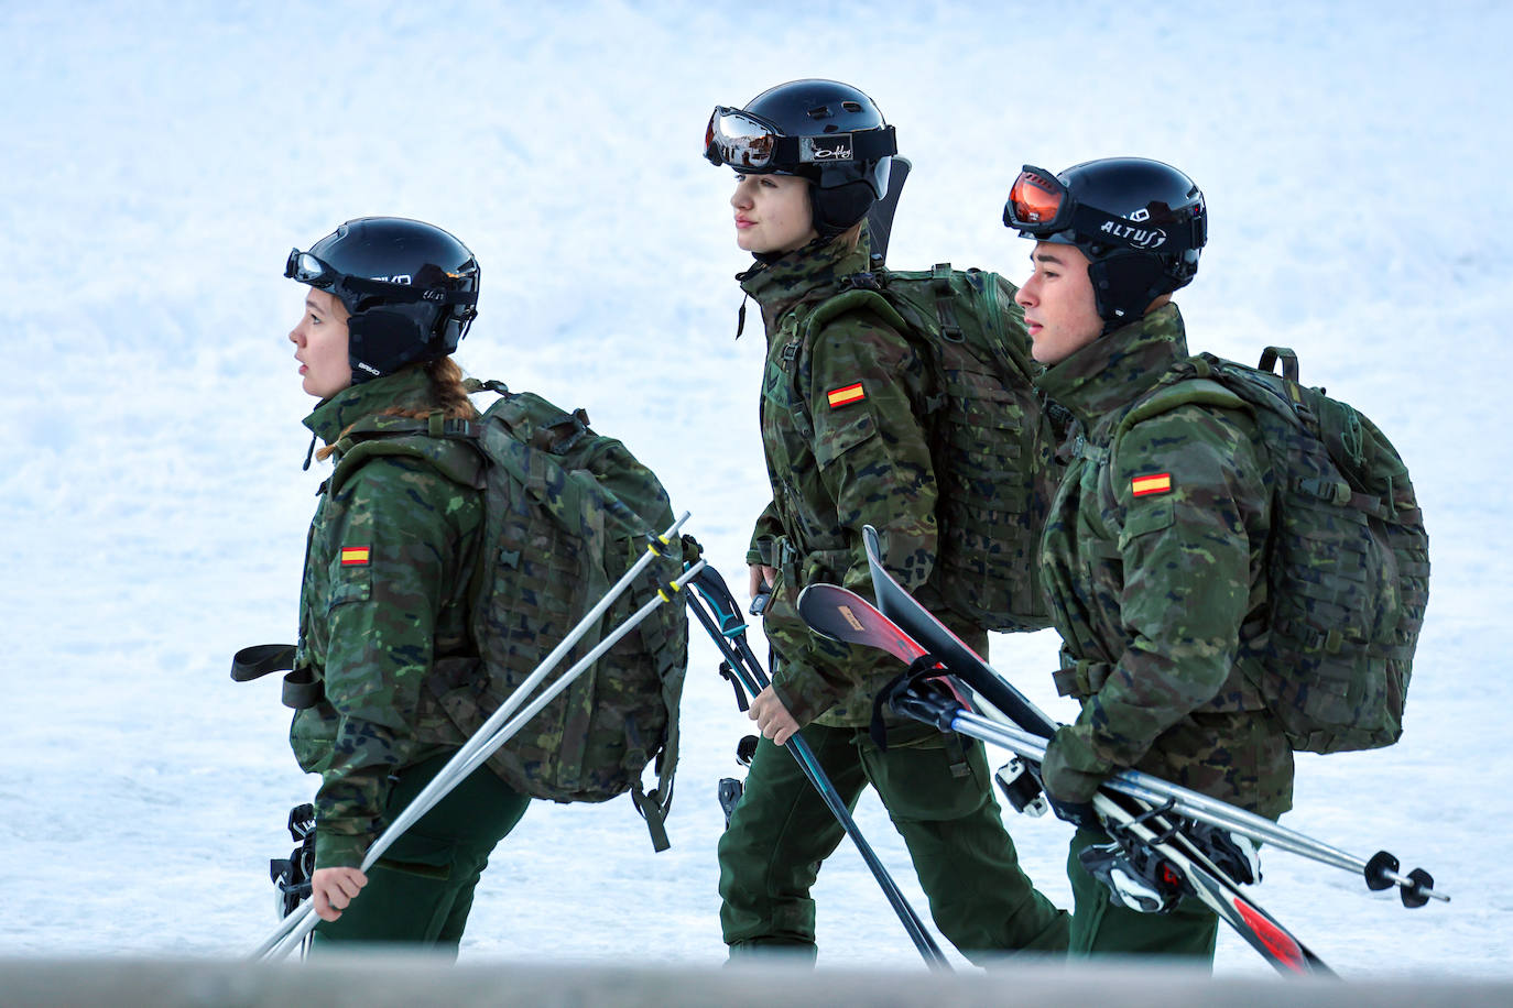
<path fill-rule="evenodd" d="M 1186 355 L 1167 305 L 1039 379 L 1080 425 L 1041 559 L 1058 688 L 1082 713 L 1045 774 L 1080 798 L 1135 766 L 1275 816 L 1292 804 L 1292 750 L 1242 671 L 1272 497 L 1256 423 L 1215 405 L 1132 411 Z"/>

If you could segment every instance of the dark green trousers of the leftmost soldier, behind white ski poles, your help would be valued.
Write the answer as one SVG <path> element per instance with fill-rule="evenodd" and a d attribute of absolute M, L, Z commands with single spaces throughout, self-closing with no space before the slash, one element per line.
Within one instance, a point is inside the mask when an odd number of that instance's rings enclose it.
<path fill-rule="evenodd" d="M 451 756 L 399 774 L 389 796 L 390 822 Z M 405 942 L 455 955 L 489 854 L 520 821 L 530 801 L 480 766 L 384 852 L 337 920 L 316 925 L 310 954 L 348 942 Z"/>

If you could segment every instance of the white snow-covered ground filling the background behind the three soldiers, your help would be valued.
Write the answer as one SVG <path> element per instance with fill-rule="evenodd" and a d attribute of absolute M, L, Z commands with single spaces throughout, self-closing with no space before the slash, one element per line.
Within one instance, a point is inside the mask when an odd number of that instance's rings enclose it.
<path fill-rule="evenodd" d="M 1395 440 L 1433 536 L 1403 742 L 1300 757 L 1285 824 L 1392 849 L 1454 902 L 1407 911 L 1277 851 L 1256 896 L 1347 976 L 1513 975 L 1510 36 L 1492 0 L 0 0 L 0 954 L 231 957 L 274 926 L 268 858 L 315 781 L 277 677 L 227 669 L 294 638 L 325 468 L 300 470 L 292 245 L 365 215 L 454 231 L 484 278 L 458 360 L 586 407 L 743 580 L 763 345 L 732 339 L 749 258 L 702 130 L 828 76 L 914 160 L 896 267 L 1023 280 L 999 215 L 1024 162 L 1142 154 L 1198 180 L 1194 349 L 1295 348 Z M 1053 653 L 1052 632 L 993 642 L 1070 718 Z M 466 960 L 723 958 L 714 787 L 747 722 L 716 663 L 696 636 L 672 851 L 628 799 L 537 802 Z M 1065 905 L 1064 824 L 1006 818 Z M 873 796 L 858 821 L 923 911 Z M 816 898 L 822 963 L 918 967 L 849 846 Z M 1216 969 L 1268 972 L 1227 932 Z"/>

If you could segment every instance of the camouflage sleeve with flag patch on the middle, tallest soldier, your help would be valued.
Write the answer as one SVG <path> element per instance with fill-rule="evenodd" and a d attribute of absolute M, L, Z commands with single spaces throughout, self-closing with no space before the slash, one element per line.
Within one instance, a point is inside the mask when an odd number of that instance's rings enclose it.
<path fill-rule="evenodd" d="M 884 544 L 884 562 L 906 588 L 918 588 L 934 570 L 940 533 L 935 524 L 935 472 L 929 443 L 917 419 L 911 388 L 923 385 L 923 363 L 894 329 L 871 316 L 832 320 L 811 349 L 809 387 L 814 417 L 817 493 L 828 497 L 834 521 L 849 547 L 841 583 L 871 597 L 871 574 L 861 529 L 871 524 Z M 800 722 L 835 704 L 884 663 L 865 648 L 849 648 L 809 635 L 822 654 L 805 671 L 779 677 L 779 698 Z M 834 677 L 825 679 L 822 673 Z"/>

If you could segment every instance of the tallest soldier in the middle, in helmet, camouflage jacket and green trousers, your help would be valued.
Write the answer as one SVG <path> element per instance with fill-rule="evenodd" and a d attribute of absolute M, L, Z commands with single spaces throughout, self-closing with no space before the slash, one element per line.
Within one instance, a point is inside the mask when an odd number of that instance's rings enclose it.
<path fill-rule="evenodd" d="M 837 131 L 846 150 L 832 150 L 823 171 L 785 154 L 794 138 L 817 150 Z M 737 243 L 756 258 L 740 280 L 767 329 L 761 431 L 773 491 L 747 555 L 752 594 L 770 588 L 773 686 L 752 703 L 764 737 L 719 845 L 732 957 L 816 955 L 809 889 L 843 831 L 778 748 L 796 731 L 849 804 L 868 783 L 878 789 L 935 923 L 958 949 L 980 958 L 1067 946 L 1065 911 L 1018 866 L 982 745 L 890 715 L 881 751 L 867 724 L 897 662 L 817 638 L 796 612 L 799 591 L 816 580 L 870 592 L 867 523 L 882 533 L 888 568 L 926 604 L 940 598 L 937 485 L 920 420 L 924 363 L 903 334 L 865 313 L 837 316 L 808 342 L 797 335 L 841 277 L 868 267 L 861 221 L 887 187 L 894 151 L 893 127 L 871 100 L 835 82 L 791 82 L 744 110 L 717 109 L 710 122 L 707 156 L 737 171 Z M 983 630 L 956 630 L 986 645 Z"/>

